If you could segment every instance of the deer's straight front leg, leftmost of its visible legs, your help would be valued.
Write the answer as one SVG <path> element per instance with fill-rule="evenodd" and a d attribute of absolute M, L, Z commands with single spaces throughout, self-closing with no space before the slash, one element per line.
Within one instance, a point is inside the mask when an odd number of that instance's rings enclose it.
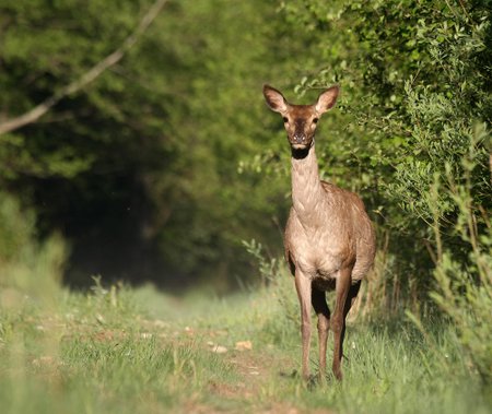
<path fill-rule="evenodd" d="M 311 280 L 300 270 L 295 271 L 295 288 L 301 304 L 301 335 L 303 341 L 303 377 L 309 378 L 311 345 Z"/>

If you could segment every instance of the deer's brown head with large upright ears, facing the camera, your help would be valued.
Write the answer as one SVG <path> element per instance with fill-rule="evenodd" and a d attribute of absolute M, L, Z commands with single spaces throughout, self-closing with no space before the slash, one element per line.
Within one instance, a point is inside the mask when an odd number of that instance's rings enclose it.
<path fill-rule="evenodd" d="M 283 118 L 292 150 L 307 150 L 313 145 L 318 120 L 335 105 L 338 93 L 339 87 L 331 86 L 319 95 L 314 105 L 292 105 L 286 102 L 280 91 L 263 85 L 268 106 Z"/>

